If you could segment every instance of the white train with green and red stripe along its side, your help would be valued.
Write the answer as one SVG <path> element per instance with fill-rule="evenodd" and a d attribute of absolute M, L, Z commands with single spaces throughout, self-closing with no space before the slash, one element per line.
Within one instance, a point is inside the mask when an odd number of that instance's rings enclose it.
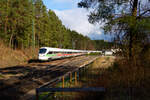
<path fill-rule="evenodd" d="M 88 51 L 88 50 L 72 50 L 72 49 L 60 49 L 60 48 L 52 48 L 52 47 L 41 47 L 39 49 L 38 59 L 42 61 L 71 57 L 71 56 L 79 56 L 88 54 L 91 52 L 101 52 L 101 51 Z"/>

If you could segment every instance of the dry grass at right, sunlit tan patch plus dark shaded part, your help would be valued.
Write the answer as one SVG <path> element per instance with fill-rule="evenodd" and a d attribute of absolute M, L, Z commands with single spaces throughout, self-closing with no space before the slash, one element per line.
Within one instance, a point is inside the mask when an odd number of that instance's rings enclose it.
<path fill-rule="evenodd" d="M 111 60 L 115 60 L 111 65 Z M 81 93 L 82 100 L 149 100 L 150 64 L 134 65 L 126 59 L 102 57 L 93 63 L 88 87 L 105 87 L 105 93 Z M 109 66 L 109 67 L 108 67 Z M 96 70 L 95 70 L 96 69 Z M 91 71 L 90 71 L 91 72 Z M 91 77 L 94 76 L 94 77 Z M 92 98 L 91 98 L 92 97 Z"/>

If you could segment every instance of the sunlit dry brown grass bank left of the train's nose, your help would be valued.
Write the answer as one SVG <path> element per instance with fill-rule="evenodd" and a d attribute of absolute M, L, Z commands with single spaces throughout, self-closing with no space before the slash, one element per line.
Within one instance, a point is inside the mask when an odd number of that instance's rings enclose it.
<path fill-rule="evenodd" d="M 0 68 L 25 64 L 36 58 L 38 49 L 13 50 L 0 42 Z"/>

